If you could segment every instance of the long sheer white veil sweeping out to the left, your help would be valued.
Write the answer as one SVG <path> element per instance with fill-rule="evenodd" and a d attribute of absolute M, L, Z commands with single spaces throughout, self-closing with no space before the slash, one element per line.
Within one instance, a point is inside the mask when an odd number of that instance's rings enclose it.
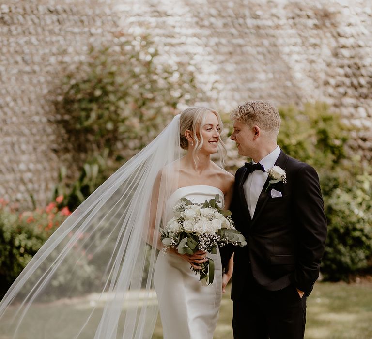
<path fill-rule="evenodd" d="M 156 243 L 178 182 L 171 164 L 180 158 L 179 121 L 117 170 L 32 258 L 0 303 L 1 339 L 151 338 Z M 159 175 L 167 168 L 171 175 Z"/>

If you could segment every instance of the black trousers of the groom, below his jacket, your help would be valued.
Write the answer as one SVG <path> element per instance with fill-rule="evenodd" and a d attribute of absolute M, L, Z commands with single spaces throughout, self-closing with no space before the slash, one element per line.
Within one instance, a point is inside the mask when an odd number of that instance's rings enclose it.
<path fill-rule="evenodd" d="M 244 300 L 233 301 L 234 339 L 303 339 L 306 296 L 293 285 L 279 291 L 251 286 Z"/>

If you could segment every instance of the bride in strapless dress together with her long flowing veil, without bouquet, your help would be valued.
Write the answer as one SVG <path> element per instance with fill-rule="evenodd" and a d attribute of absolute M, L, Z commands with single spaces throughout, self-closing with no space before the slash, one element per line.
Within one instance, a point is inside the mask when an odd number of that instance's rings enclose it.
<path fill-rule="evenodd" d="M 233 176 L 210 159 L 224 149 L 221 128 L 216 111 L 187 108 L 97 188 L 1 300 L 0 338 L 151 338 L 157 304 L 164 338 L 212 338 L 232 265 L 222 275 L 217 252 L 215 281 L 202 286 L 189 268 L 207 253 L 159 253 L 159 227 L 182 197 L 218 193 L 228 207 Z"/>

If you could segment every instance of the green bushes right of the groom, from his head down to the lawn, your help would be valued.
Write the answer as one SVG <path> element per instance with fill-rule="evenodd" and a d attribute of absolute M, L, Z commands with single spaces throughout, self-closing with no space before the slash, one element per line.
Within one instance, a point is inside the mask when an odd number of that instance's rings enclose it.
<path fill-rule="evenodd" d="M 328 220 L 322 274 L 328 280 L 348 281 L 371 265 L 372 170 L 348 157 L 350 127 L 325 104 L 281 108 L 280 116 L 278 144 L 285 153 L 314 166 L 320 176 Z"/>

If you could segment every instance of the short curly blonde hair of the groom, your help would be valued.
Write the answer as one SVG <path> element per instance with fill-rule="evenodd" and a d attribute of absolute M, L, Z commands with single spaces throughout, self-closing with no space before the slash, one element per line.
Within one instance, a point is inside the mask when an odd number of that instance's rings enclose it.
<path fill-rule="evenodd" d="M 241 120 L 250 127 L 257 125 L 275 135 L 279 133 L 281 124 L 279 111 L 269 101 L 248 101 L 235 108 L 230 117 L 232 120 Z"/>

